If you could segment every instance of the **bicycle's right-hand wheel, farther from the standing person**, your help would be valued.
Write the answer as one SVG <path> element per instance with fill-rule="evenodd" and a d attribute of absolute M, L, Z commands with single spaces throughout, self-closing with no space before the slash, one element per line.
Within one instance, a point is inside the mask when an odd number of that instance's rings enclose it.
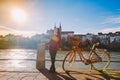
<path fill-rule="evenodd" d="M 95 70 L 106 69 L 110 65 L 110 54 L 107 50 L 95 50 L 96 54 L 91 55 L 91 66 Z M 96 60 L 96 61 L 95 61 Z"/>

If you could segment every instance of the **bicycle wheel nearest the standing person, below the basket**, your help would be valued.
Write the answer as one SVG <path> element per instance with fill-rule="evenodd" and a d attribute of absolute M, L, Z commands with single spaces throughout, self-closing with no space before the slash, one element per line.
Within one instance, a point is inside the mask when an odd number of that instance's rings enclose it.
<path fill-rule="evenodd" d="M 67 53 L 63 60 L 62 68 L 64 71 L 71 70 L 76 60 L 76 53 L 72 50 Z"/>

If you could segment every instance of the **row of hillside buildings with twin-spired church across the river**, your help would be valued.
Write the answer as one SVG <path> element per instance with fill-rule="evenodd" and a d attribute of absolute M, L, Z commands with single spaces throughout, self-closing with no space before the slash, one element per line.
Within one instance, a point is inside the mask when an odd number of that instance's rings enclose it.
<path fill-rule="evenodd" d="M 57 28 L 56 25 L 54 26 L 54 28 Z M 87 33 L 87 34 L 75 34 L 74 31 L 63 31 L 61 24 L 58 27 L 60 29 L 60 34 L 61 34 L 61 38 L 64 39 L 65 41 L 68 40 L 68 38 L 70 36 L 74 36 L 77 37 L 81 40 L 97 40 L 100 41 L 102 44 L 104 45 L 109 45 L 112 42 L 120 42 L 120 31 L 117 31 L 115 33 L 109 32 L 109 33 L 98 33 L 97 35 L 95 34 L 91 34 L 91 33 Z M 53 32 L 53 30 L 50 30 L 51 32 Z"/>

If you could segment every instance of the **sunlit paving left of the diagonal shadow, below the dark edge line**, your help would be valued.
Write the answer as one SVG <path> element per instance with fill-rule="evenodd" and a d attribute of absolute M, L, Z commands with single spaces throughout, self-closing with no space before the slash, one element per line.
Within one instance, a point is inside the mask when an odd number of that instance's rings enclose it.
<path fill-rule="evenodd" d="M 1 72 L 0 80 L 47 80 L 40 73 Z"/>

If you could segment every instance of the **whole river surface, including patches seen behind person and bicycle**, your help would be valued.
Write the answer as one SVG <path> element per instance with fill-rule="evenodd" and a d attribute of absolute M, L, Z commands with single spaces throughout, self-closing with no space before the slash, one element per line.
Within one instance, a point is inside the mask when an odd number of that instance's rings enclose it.
<path fill-rule="evenodd" d="M 50 67 L 50 56 L 49 52 L 45 51 L 45 66 Z M 0 50 L 0 67 L 29 67 L 36 68 L 36 56 L 37 50 L 34 49 L 1 49 Z M 66 55 L 65 51 L 60 51 L 57 53 L 56 67 L 62 68 L 62 61 Z M 120 52 L 110 52 L 111 64 L 109 69 L 120 70 Z M 76 64 L 79 68 L 89 68 L 83 63 Z"/>

